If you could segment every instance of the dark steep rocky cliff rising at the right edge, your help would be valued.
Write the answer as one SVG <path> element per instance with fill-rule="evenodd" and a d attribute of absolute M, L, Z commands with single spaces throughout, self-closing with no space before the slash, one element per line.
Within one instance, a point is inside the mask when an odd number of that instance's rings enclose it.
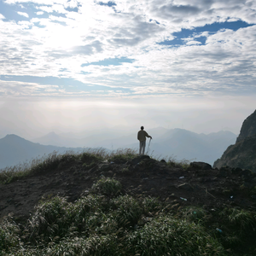
<path fill-rule="evenodd" d="M 250 169 L 256 172 L 256 110 L 241 125 L 235 145 L 230 145 L 222 157 L 216 160 L 213 168 L 223 166 Z"/>

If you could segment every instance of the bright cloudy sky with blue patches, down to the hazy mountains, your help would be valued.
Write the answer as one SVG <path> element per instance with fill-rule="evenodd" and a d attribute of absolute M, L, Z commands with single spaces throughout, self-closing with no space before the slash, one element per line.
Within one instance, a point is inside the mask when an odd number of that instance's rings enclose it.
<path fill-rule="evenodd" d="M 254 0 L 0 0 L 0 137 L 238 134 L 255 60 Z"/>

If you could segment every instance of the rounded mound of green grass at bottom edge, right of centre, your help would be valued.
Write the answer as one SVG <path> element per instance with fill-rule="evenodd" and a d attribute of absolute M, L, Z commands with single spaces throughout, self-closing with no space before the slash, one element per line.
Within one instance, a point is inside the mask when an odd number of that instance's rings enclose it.
<path fill-rule="evenodd" d="M 125 238 L 122 255 L 224 255 L 224 248 L 200 225 L 160 216 Z"/>

